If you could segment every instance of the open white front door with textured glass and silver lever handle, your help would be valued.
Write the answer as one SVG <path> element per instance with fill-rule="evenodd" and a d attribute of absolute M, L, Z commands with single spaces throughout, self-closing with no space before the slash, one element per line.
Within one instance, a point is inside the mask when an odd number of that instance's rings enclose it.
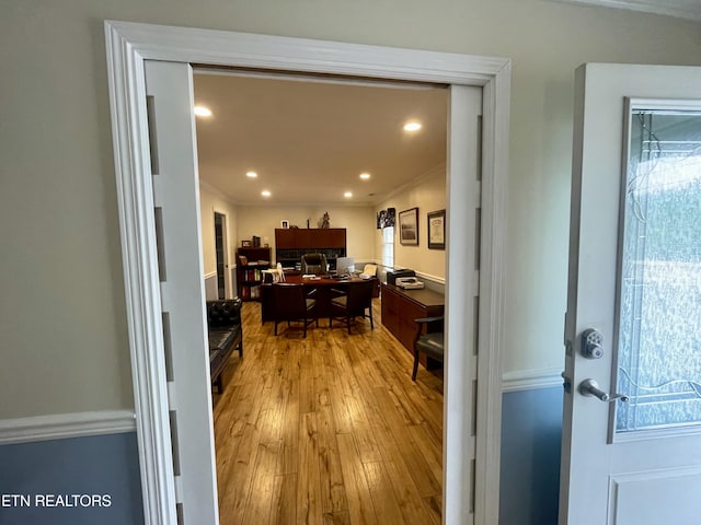
<path fill-rule="evenodd" d="M 577 70 L 570 234 L 560 523 L 701 523 L 701 68 Z"/>

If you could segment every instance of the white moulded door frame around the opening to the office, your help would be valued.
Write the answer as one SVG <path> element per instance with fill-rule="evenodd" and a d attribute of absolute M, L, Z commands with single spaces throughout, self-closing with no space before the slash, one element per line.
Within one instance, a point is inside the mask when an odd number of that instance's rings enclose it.
<path fill-rule="evenodd" d="M 474 515 L 475 524 L 497 523 L 510 61 L 114 21 L 105 22 L 105 36 L 146 523 L 176 523 L 177 483 L 173 476 L 169 393 L 163 363 L 145 60 L 482 88 L 478 399 L 474 399 L 474 385 L 460 376 L 461 371 L 448 364 L 444 406 L 443 518 L 444 523 L 461 524 L 470 522 L 470 516 Z M 464 132 L 459 124 L 451 122 L 453 139 L 459 139 Z M 450 172 L 450 166 L 448 170 Z M 456 180 L 459 176 L 450 178 Z M 469 230 L 461 224 L 453 224 L 448 232 L 448 244 L 463 244 L 466 231 Z M 449 275 L 449 285 L 460 290 L 461 283 L 474 278 L 472 272 L 462 273 Z M 471 349 L 474 335 L 467 334 L 464 323 L 458 322 L 459 307 L 448 306 L 448 315 L 456 319 L 451 324 L 455 326 L 451 341 L 457 345 L 451 348 Z M 470 416 L 475 409 L 476 438 L 471 439 L 473 422 Z M 475 458 L 474 465 L 472 457 Z M 474 501 L 468 497 L 472 493 L 473 482 Z"/>

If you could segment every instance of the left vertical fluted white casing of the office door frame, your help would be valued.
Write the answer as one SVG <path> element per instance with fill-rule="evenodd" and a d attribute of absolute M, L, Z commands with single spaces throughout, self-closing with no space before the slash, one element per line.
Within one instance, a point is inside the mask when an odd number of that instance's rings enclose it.
<path fill-rule="evenodd" d="M 143 57 L 105 24 L 112 140 L 146 525 L 177 523 Z"/>

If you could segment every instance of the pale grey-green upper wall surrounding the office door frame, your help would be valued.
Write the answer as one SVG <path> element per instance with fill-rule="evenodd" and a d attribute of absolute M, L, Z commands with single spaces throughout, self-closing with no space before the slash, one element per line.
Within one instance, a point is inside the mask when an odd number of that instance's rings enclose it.
<path fill-rule="evenodd" d="M 698 23 L 543 0 L 3 0 L 0 418 L 133 406 L 105 19 L 512 58 L 506 371 L 563 361 L 574 69 L 701 65 Z"/>

